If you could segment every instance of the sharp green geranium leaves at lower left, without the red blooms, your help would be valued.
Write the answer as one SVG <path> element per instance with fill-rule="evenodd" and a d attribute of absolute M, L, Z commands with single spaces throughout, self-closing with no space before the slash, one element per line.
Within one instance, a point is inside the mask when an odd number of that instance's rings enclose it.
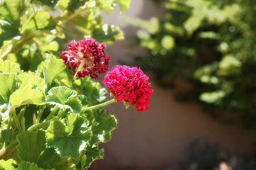
<path fill-rule="evenodd" d="M 103 158 L 103 150 L 98 150 L 98 144 L 110 140 L 110 131 L 117 128 L 117 122 L 114 116 L 106 114 L 104 109 L 81 112 L 81 108 L 104 101 L 106 93 L 101 92 L 100 84 L 88 77 L 75 80 L 76 83 L 70 80 L 70 83 L 66 83 L 68 87 L 60 86 L 72 73 L 65 68 L 55 74 L 49 63 L 55 63 L 56 67 L 60 65 L 59 59 L 49 55 L 48 60 L 43 62 L 43 68 L 39 66 L 36 72 L 26 73 L 20 71 L 18 66 L 11 70 L 10 62 L 2 62 L 7 71 L 18 70 L 16 74 L 0 73 L 1 117 L 2 120 L 9 118 L 11 124 L 8 143 L 18 140 L 16 150 L 21 161 L 20 164 L 15 163 L 19 160 L 13 160 L 12 163 L 15 164 L 15 169 L 89 168 L 93 160 Z M 51 74 L 46 74 L 46 70 Z M 88 88 L 88 91 L 84 93 L 85 88 Z M 15 109 L 16 112 L 19 111 L 17 120 Z M 45 116 L 42 116 L 43 114 Z M 14 120 L 10 120 L 10 117 Z M 46 120 L 40 122 L 41 117 Z M 46 131 L 34 132 L 35 125 L 38 129 L 48 128 Z M 17 135 L 18 126 L 22 127 L 22 133 Z M 2 128 L 1 135 L 6 135 L 8 128 Z M 4 142 L 1 143 L 3 145 Z M 8 160 L 0 162 L 0 165 L 5 168 L 10 167 L 12 163 Z"/>

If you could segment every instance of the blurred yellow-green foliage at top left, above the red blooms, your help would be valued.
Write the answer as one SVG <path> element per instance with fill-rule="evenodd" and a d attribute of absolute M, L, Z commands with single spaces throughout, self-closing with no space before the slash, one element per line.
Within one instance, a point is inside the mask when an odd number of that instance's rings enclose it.
<path fill-rule="evenodd" d="M 25 71 L 34 71 L 46 52 L 58 50 L 56 38 L 64 39 L 63 31 L 105 43 L 123 39 L 118 27 L 102 23 L 99 12 L 101 9 L 110 14 L 116 4 L 124 12 L 130 0 L 1 1 L 0 59 L 7 58 L 20 63 Z"/>

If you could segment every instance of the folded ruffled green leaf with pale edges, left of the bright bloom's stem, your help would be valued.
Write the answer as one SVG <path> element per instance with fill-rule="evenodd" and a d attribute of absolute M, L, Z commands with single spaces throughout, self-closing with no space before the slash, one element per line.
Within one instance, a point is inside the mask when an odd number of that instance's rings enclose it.
<path fill-rule="evenodd" d="M 74 113 L 81 112 L 81 101 L 77 98 L 75 90 L 68 87 L 59 86 L 53 87 L 48 91 L 46 96 L 48 104 L 56 104 L 59 108 L 69 108 Z"/>

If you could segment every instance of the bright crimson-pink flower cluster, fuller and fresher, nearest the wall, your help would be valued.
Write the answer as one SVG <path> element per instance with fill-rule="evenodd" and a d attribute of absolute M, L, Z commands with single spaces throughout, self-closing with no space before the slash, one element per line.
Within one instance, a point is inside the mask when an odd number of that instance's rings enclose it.
<path fill-rule="evenodd" d="M 131 103 L 137 111 L 144 112 L 153 92 L 148 79 L 140 68 L 118 65 L 109 71 L 102 83 L 109 87 L 117 101 Z"/>

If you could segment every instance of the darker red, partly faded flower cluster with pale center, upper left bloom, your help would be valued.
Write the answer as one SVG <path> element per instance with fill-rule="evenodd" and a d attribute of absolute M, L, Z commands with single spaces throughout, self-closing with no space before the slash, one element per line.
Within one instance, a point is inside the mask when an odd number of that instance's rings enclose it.
<path fill-rule="evenodd" d="M 98 44 L 94 39 L 82 39 L 78 42 L 70 41 L 67 50 L 61 52 L 61 58 L 69 69 L 77 72 L 76 76 L 90 75 L 98 78 L 98 74 L 106 73 L 109 69 L 109 56 L 105 56 L 105 45 Z M 83 63 L 82 70 L 76 70 Z"/>

